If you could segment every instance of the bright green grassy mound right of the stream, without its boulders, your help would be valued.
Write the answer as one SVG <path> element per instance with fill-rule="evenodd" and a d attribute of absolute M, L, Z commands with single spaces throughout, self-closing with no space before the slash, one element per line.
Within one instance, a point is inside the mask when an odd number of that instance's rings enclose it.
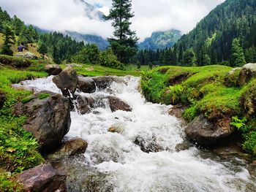
<path fill-rule="evenodd" d="M 247 123 L 254 125 L 254 118 L 248 116 L 244 107 L 241 106 L 241 97 L 249 88 L 256 91 L 256 80 L 252 80 L 242 88 L 233 85 L 232 80 L 229 80 L 230 83 L 226 83 L 225 77 L 230 69 L 228 66 L 217 65 L 201 67 L 161 66 L 151 72 L 144 73 L 141 86 L 144 95 L 150 101 L 165 104 L 186 104 L 188 109 L 184 112 L 184 118 L 189 121 L 199 114 L 205 115 L 211 121 L 235 116 L 241 119 L 246 116 Z M 174 77 L 186 73 L 189 74 L 187 79 L 176 85 L 170 85 L 170 81 Z M 237 78 L 238 73 L 234 76 L 235 80 Z M 246 129 L 244 149 L 256 155 L 255 126 L 249 128 L 245 123 L 243 126 Z"/>

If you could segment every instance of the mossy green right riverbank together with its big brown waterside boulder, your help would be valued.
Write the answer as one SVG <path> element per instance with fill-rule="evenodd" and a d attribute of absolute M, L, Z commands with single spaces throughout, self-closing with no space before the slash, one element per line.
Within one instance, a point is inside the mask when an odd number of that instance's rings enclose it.
<path fill-rule="evenodd" d="M 148 101 L 186 106 L 182 115 L 189 122 L 187 136 L 200 145 L 219 144 L 239 131 L 243 149 L 255 155 L 256 79 L 244 80 L 244 70 L 228 66 L 162 66 L 144 73 L 141 87 Z M 203 128 L 204 123 L 209 126 Z"/>

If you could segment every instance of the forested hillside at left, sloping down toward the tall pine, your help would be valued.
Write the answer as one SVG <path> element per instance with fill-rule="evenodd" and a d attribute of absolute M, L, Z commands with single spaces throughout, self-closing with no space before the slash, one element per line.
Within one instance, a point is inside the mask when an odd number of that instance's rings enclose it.
<path fill-rule="evenodd" d="M 84 47 L 83 42 L 76 42 L 71 37 L 61 33 L 39 34 L 33 26 L 26 26 L 25 23 L 14 16 L 3 11 L 0 7 L 0 33 L 4 44 L 1 46 L 1 53 L 12 55 L 17 46 L 23 42 L 31 46 L 42 55 L 53 58 L 57 64 L 61 61 L 71 61 L 72 55 L 78 53 Z M 8 48 L 9 47 L 9 48 Z"/>

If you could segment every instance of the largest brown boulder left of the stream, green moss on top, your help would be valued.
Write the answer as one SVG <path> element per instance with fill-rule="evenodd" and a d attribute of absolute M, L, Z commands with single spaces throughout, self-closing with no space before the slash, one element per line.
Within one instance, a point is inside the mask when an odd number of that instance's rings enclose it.
<path fill-rule="evenodd" d="M 64 135 L 69 131 L 69 99 L 61 94 L 46 91 L 36 93 L 15 104 L 12 111 L 15 115 L 28 117 L 22 128 L 33 134 L 44 151 L 59 147 Z"/>

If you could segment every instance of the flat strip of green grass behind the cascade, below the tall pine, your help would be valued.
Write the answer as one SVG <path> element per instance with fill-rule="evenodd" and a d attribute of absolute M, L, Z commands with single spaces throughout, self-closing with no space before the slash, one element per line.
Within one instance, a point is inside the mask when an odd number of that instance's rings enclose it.
<path fill-rule="evenodd" d="M 141 71 L 147 70 L 146 66 L 143 66 L 141 69 L 136 69 L 134 66 L 127 66 L 127 70 L 120 70 L 120 69 L 113 69 L 110 67 L 99 66 L 99 65 L 90 65 L 90 64 L 76 64 L 74 69 L 78 74 L 88 77 L 95 77 L 95 76 L 126 76 L 132 75 L 135 77 L 139 77 Z M 61 65 L 61 68 L 64 69 L 66 65 Z"/>

